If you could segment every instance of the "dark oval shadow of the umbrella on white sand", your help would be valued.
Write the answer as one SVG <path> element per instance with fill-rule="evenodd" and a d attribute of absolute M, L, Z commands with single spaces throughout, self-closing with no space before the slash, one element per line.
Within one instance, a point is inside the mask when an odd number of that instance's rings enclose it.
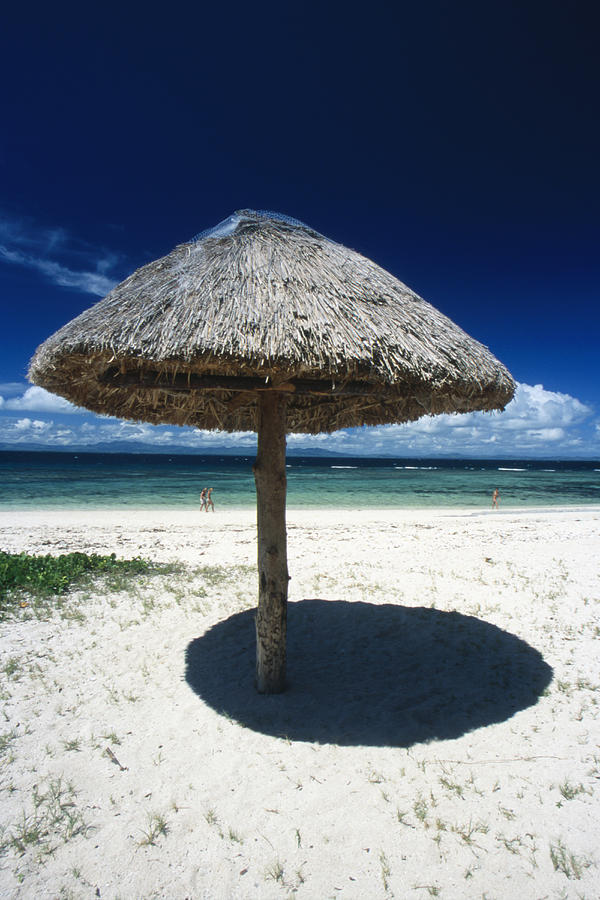
<path fill-rule="evenodd" d="M 254 690 L 254 610 L 192 641 L 186 680 L 217 711 L 296 741 L 409 747 L 509 719 L 552 679 L 541 654 L 473 616 L 326 600 L 288 606 L 285 693 Z"/>

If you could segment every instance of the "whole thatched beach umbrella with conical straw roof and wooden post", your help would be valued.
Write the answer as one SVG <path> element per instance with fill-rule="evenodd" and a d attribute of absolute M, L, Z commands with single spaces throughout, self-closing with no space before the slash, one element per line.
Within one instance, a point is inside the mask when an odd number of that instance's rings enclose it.
<path fill-rule="evenodd" d="M 498 409 L 514 391 L 485 347 L 378 265 L 252 210 L 142 266 L 48 338 L 29 377 L 98 413 L 258 432 L 266 693 L 285 685 L 286 432 Z"/>

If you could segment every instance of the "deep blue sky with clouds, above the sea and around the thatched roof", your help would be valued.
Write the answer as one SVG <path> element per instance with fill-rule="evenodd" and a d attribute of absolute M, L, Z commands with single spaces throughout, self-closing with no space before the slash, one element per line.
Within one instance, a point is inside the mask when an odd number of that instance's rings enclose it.
<path fill-rule="evenodd" d="M 5 14 L 1 447 L 251 449 L 252 435 L 92 416 L 26 371 L 135 268 L 253 207 L 371 257 L 519 383 L 503 414 L 290 436 L 291 448 L 600 457 L 597 6 L 352 9 Z"/>

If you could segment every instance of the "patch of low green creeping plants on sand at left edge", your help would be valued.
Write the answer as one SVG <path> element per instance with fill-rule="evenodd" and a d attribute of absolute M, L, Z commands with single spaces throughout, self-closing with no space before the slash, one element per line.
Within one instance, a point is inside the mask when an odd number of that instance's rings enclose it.
<path fill-rule="evenodd" d="M 0 551 L 0 619 L 21 605 L 25 596 L 48 601 L 89 584 L 97 576 L 105 578 L 108 589 L 120 590 L 124 587 L 123 578 L 164 575 L 174 570 L 172 565 L 158 565 L 139 557 L 117 559 L 114 553 L 30 556 Z"/>

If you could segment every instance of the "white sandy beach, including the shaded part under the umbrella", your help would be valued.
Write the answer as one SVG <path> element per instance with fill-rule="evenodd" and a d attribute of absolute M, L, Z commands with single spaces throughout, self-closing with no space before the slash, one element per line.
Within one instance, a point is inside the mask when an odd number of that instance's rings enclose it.
<path fill-rule="evenodd" d="M 1 624 L 2 897 L 600 897 L 598 508 L 290 510 L 278 697 L 253 512 L 0 531 L 184 566 Z"/>

